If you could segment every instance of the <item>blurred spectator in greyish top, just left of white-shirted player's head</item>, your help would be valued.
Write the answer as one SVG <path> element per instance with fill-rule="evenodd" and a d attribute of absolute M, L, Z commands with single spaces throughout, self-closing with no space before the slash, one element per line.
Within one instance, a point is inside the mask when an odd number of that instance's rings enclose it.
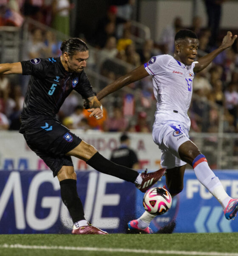
<path fill-rule="evenodd" d="M 175 34 L 182 29 L 181 17 L 176 17 L 172 25 L 167 26 L 160 35 L 159 44 L 163 49 L 164 54 L 173 55 L 174 52 L 174 37 Z"/>

